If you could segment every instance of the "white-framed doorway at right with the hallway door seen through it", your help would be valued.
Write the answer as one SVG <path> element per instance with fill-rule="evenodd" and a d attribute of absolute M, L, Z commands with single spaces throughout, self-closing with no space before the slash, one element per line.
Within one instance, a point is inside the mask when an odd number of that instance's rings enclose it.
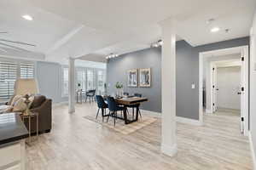
<path fill-rule="evenodd" d="M 230 112 L 240 119 L 241 133 L 247 135 L 248 47 L 202 52 L 199 60 L 200 122 L 203 123 L 204 111 L 208 114 Z M 203 101 L 203 94 L 206 101 Z M 203 103 L 206 103 L 205 108 Z"/>

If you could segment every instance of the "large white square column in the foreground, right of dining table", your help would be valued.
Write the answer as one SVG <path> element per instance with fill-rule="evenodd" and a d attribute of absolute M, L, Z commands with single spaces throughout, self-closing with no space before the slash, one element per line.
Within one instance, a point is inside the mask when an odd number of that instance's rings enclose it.
<path fill-rule="evenodd" d="M 162 28 L 162 141 L 167 156 L 177 153 L 176 139 L 176 30 L 175 21 L 164 20 Z"/>

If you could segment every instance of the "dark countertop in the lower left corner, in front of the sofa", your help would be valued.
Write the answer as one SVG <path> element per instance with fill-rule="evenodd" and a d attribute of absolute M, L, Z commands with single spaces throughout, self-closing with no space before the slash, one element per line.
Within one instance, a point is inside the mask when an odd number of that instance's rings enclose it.
<path fill-rule="evenodd" d="M 18 113 L 0 114 L 0 144 L 28 137 L 28 131 Z"/>

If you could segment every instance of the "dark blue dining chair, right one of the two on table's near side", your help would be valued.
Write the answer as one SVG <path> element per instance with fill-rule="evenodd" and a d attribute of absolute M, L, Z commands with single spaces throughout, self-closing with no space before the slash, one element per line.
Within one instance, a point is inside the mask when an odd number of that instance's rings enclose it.
<path fill-rule="evenodd" d="M 107 102 L 108 102 L 108 110 L 109 110 L 108 119 L 109 119 L 109 116 L 113 116 L 113 126 L 115 126 L 117 112 L 122 111 L 124 113 L 125 107 L 118 105 L 118 103 L 113 99 L 113 97 L 108 97 Z M 108 119 L 107 119 L 107 122 L 108 122 Z"/>

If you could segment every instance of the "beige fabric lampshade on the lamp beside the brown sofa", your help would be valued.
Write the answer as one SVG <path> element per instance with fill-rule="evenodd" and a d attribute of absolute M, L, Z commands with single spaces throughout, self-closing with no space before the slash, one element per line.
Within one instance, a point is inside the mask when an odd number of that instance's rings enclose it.
<path fill-rule="evenodd" d="M 15 95 L 38 94 L 38 82 L 34 78 L 20 78 L 15 81 Z"/>

